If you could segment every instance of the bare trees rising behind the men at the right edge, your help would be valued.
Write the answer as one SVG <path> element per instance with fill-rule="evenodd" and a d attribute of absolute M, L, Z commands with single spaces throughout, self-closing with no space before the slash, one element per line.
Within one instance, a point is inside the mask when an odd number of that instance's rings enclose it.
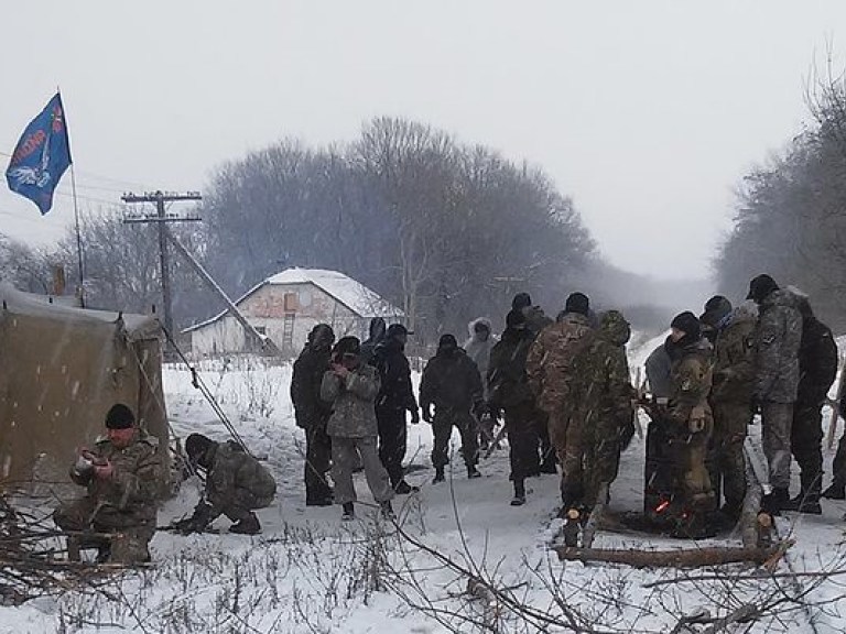
<path fill-rule="evenodd" d="M 734 226 L 715 260 L 719 287 L 746 295 L 769 273 L 811 296 L 815 311 L 846 329 L 846 85 L 815 80 L 812 120 L 737 188 Z"/>

